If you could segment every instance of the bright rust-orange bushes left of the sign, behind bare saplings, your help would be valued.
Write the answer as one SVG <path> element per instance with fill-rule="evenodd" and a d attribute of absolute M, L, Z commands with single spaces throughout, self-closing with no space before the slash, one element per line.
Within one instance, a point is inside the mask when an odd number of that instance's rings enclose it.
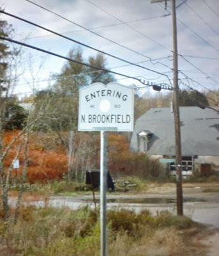
<path fill-rule="evenodd" d="M 19 131 L 8 131 L 4 134 L 5 147 L 17 136 Z M 61 179 L 66 173 L 67 157 L 64 150 L 56 152 L 54 150 L 45 150 L 40 147 L 43 141 L 43 136 L 40 138 L 39 134 L 34 134 L 29 139 L 28 161 L 27 161 L 27 180 L 31 183 L 46 182 L 48 180 Z M 10 148 L 6 158 L 4 159 L 4 166 L 8 168 L 16 156 L 17 148 L 19 147 L 22 138 L 17 140 L 13 147 Z M 36 143 L 38 141 L 38 143 Z M 42 143 L 43 144 L 43 143 Z M 4 147 L 4 148 L 5 148 Z M 24 164 L 24 147 L 19 156 L 20 168 L 13 170 L 12 175 L 17 176 L 22 172 L 22 165 Z"/>

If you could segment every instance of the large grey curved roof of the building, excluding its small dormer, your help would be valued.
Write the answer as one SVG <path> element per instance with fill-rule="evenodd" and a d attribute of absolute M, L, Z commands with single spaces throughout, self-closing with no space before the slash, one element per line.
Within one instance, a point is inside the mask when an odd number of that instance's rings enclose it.
<path fill-rule="evenodd" d="M 180 107 L 183 156 L 219 156 L 219 114 L 212 109 Z M 130 148 L 138 151 L 137 134 L 153 133 L 148 154 L 175 155 L 174 113 L 170 108 L 152 108 L 135 124 Z"/>

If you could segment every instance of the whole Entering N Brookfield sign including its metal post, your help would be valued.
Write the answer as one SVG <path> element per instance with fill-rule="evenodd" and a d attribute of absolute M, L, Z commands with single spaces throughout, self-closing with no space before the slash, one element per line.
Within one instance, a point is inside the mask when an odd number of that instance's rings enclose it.
<path fill-rule="evenodd" d="M 133 89 L 117 83 L 80 88 L 79 131 L 100 131 L 100 256 L 107 256 L 107 131 L 133 131 Z"/>

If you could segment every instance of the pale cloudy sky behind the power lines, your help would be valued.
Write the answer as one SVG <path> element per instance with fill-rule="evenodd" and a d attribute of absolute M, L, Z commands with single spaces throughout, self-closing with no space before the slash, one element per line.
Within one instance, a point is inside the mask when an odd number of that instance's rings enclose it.
<path fill-rule="evenodd" d="M 32 0 L 31 0 L 32 1 Z M 33 0 L 34 3 L 56 12 L 68 20 L 29 3 L 26 0 L 0 0 L 5 12 L 30 20 L 53 31 L 78 40 L 96 49 L 139 63 L 144 68 L 126 65 L 106 56 L 107 68 L 121 74 L 138 77 L 149 83 L 172 83 L 172 15 L 171 4 L 151 3 L 151 0 Z M 218 90 L 219 82 L 219 1 L 177 0 L 177 44 L 179 53 L 179 86 L 200 92 Z M 67 56 L 78 44 L 70 42 L 31 24 L 1 14 L 15 29 L 13 39 Z M 80 26 L 89 29 L 82 29 Z M 91 33 L 94 31 L 98 35 Z M 103 36 L 104 38 L 102 38 Z M 108 40 L 107 40 L 107 39 Z M 84 58 L 96 51 L 81 47 Z M 23 73 L 14 93 L 28 95 L 36 77 L 38 90 L 45 88 L 51 74 L 61 71 L 64 60 L 23 47 Z M 162 58 L 149 61 L 149 58 Z M 21 71 L 22 70 L 22 71 Z M 156 72 L 165 74 L 162 76 Z M 183 73 L 181 73 L 183 72 Z M 169 76 L 170 82 L 166 76 Z M 187 77 L 187 78 L 186 78 Z M 118 83 L 144 86 L 140 82 L 116 76 Z M 170 84 L 171 85 L 171 84 Z M 152 88 L 142 88 L 141 93 Z M 157 92 L 158 93 L 158 92 Z"/>

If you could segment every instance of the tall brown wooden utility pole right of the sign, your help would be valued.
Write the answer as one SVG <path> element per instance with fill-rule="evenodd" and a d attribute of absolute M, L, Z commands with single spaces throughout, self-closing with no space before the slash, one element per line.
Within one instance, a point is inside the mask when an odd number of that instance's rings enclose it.
<path fill-rule="evenodd" d="M 163 2 L 167 0 L 151 0 L 151 3 Z M 176 196 L 177 215 L 183 215 L 183 187 L 182 187 L 182 155 L 181 155 L 181 131 L 179 118 L 179 85 L 178 85 L 178 52 L 177 52 L 177 26 L 176 26 L 176 0 L 172 2 L 172 39 L 173 39 L 173 74 L 174 74 L 174 125 L 176 143 Z"/>

